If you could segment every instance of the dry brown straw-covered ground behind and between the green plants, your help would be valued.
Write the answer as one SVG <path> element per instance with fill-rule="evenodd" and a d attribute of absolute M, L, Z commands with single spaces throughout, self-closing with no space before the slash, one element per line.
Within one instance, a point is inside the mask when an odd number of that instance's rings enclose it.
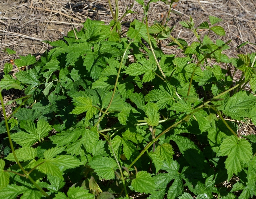
<path fill-rule="evenodd" d="M 119 0 L 119 16 L 133 2 L 132 0 Z M 113 0 L 111 3 L 114 7 Z M 169 6 L 164 2 L 152 3 L 148 14 L 150 24 L 154 21 L 161 21 L 166 16 L 168 9 Z M 142 19 L 143 9 L 137 2 L 132 6 L 132 10 L 137 13 L 128 14 L 121 22 Z M 256 43 L 255 0 L 180 0 L 173 5 L 172 11 L 168 25 L 176 26 L 172 32 L 174 37 L 179 36 L 191 43 L 195 37 L 191 32 L 182 28 L 179 21 L 188 21 L 192 16 L 198 26 L 203 21 L 209 21 L 208 16 L 212 15 L 223 19 L 218 25 L 225 29 L 226 36 L 222 36 L 221 39 L 224 41 L 232 39 L 231 48 L 226 51 L 228 56 L 251 53 L 256 50 L 255 45 L 246 45 L 238 51 L 236 50 L 239 44 L 247 40 Z M 62 39 L 68 31 L 72 30 L 71 23 L 79 29 L 80 23 L 84 22 L 86 18 L 102 20 L 106 24 L 112 20 L 107 0 L 0 0 L 0 12 L 0 78 L 3 75 L 4 63 L 10 60 L 2 52 L 5 47 L 17 51 L 14 58 L 27 54 L 33 54 L 39 58 L 46 49 L 50 48 L 42 41 Z M 205 33 L 207 31 L 200 32 L 202 35 Z M 168 41 L 163 42 L 163 51 L 179 56 L 179 51 L 174 47 L 166 46 L 167 44 Z M 19 93 L 4 91 L 3 95 L 7 102 L 19 96 Z M 6 108 L 7 114 L 10 113 L 11 107 Z"/>

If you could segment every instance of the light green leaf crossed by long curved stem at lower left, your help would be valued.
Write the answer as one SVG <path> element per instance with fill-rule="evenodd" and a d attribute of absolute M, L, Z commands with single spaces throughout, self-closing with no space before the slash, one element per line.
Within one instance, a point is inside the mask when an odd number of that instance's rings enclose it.
<path fill-rule="evenodd" d="M 15 150 L 16 157 L 19 161 L 30 161 L 34 160 L 37 155 L 37 150 L 31 147 L 22 147 Z M 13 153 L 9 153 L 5 158 L 6 160 L 16 162 Z"/>

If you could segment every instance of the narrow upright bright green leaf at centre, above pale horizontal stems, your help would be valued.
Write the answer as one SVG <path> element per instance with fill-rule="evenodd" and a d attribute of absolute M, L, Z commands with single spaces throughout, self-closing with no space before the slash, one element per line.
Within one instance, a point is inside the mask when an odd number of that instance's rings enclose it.
<path fill-rule="evenodd" d="M 159 122 L 159 108 L 157 104 L 148 102 L 146 107 L 146 115 L 148 116 L 147 118 L 145 117 L 146 122 L 150 126 L 157 126 Z"/>

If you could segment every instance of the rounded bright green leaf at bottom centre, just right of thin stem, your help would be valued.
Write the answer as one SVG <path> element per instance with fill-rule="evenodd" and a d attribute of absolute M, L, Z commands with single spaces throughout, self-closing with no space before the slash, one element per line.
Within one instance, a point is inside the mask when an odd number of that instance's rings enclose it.
<path fill-rule="evenodd" d="M 146 194 L 157 190 L 154 178 L 147 171 L 139 171 L 136 174 L 136 178 L 132 180 L 132 187 L 135 191 Z"/>

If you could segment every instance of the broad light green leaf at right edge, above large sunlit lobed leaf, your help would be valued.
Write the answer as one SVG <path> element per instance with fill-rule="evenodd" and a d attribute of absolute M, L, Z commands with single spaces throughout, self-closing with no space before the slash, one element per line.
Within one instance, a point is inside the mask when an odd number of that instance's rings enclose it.
<path fill-rule="evenodd" d="M 254 106 L 255 100 L 252 94 L 248 96 L 245 91 L 239 91 L 225 100 L 223 113 L 232 119 L 241 120 L 247 115 L 247 110 Z"/>

